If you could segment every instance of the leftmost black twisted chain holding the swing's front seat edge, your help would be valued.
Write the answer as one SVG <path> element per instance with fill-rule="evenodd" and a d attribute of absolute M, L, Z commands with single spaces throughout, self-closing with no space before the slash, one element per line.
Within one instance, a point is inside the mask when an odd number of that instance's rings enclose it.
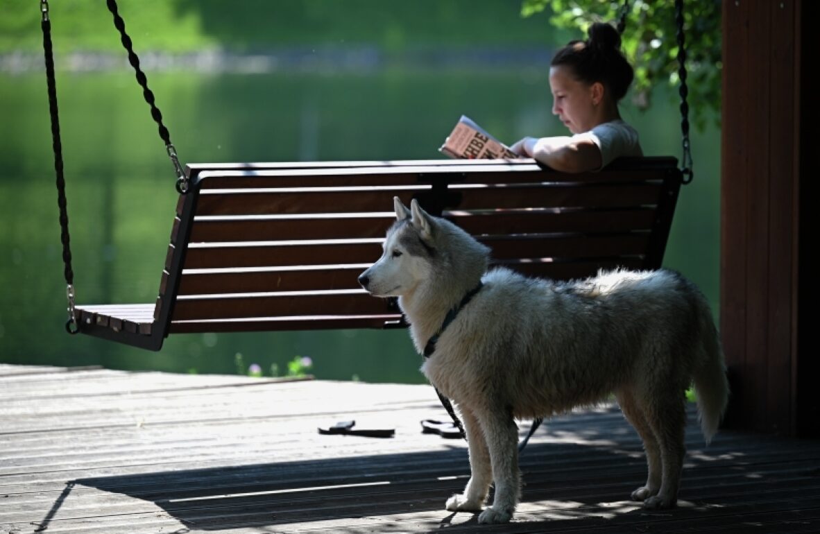
<path fill-rule="evenodd" d="M 57 206 L 60 207 L 60 241 L 62 242 L 62 261 L 65 264 L 63 274 L 66 277 L 66 299 L 68 300 L 68 321 L 66 331 L 76 334 L 79 331 L 76 321 L 74 301 L 74 271 L 71 269 L 71 235 L 68 232 L 68 202 L 66 201 L 66 178 L 63 173 L 62 142 L 60 140 L 60 118 L 57 110 L 57 81 L 54 75 L 54 52 L 51 40 L 51 21 L 48 20 L 48 1 L 41 0 L 40 11 L 43 13 L 43 54 L 46 62 L 46 80 L 48 83 L 48 112 L 52 125 L 52 148 L 54 149 L 54 172 L 57 175 Z"/>

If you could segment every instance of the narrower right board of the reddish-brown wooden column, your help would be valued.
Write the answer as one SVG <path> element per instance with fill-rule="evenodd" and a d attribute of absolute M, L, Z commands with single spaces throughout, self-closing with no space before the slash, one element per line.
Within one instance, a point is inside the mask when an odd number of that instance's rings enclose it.
<path fill-rule="evenodd" d="M 796 201 L 806 191 L 800 183 L 799 150 L 795 149 L 800 145 L 800 121 L 804 120 L 799 104 L 795 105 L 801 94 L 799 78 L 795 77 L 795 59 L 799 58 L 799 54 L 795 57 L 799 43 L 795 33 L 799 34 L 800 25 L 799 8 L 795 9 L 795 3 L 781 2 L 768 7 L 772 27 L 768 47 L 768 62 L 771 64 L 768 77 L 771 80 L 769 135 L 777 142 L 770 142 L 767 147 L 770 151 L 766 230 L 768 298 L 763 327 L 768 329 L 768 361 L 762 366 L 767 375 L 767 399 L 764 411 L 760 412 L 768 418 L 767 427 L 790 436 L 795 435 L 797 421 L 794 373 L 807 371 L 799 365 L 799 352 L 804 354 L 805 361 L 810 358 L 806 349 L 798 350 L 796 340 L 799 328 L 795 309 L 802 297 L 797 282 L 800 223 Z M 761 258 L 756 259 L 761 261 Z M 818 406 L 818 403 L 814 405 Z M 815 434 L 820 435 L 820 422 L 815 421 L 815 425 L 818 429 Z"/>

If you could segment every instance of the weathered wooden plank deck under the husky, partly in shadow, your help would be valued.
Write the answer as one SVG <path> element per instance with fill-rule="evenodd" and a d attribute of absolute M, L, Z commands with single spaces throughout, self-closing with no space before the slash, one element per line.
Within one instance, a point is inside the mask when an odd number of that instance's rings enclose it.
<path fill-rule="evenodd" d="M 466 445 L 430 386 L 0 365 L 0 533 L 820 532 L 820 443 L 690 418 L 677 509 L 627 500 L 640 442 L 617 408 L 555 418 L 522 455 L 513 523 L 444 500 Z M 388 439 L 323 436 L 355 419 Z M 522 433 L 528 425 L 522 425 Z"/>

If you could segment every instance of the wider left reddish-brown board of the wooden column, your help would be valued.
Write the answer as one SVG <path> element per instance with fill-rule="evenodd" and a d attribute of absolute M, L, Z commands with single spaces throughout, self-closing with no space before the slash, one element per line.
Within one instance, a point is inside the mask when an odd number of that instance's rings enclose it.
<path fill-rule="evenodd" d="M 754 6 L 745 2 L 722 5 L 724 54 L 731 93 L 722 94 L 722 117 L 726 129 L 721 139 L 721 335 L 732 381 L 732 402 L 727 423 L 737 427 L 771 431 L 765 424 L 766 366 L 761 354 L 767 346 L 768 317 L 754 308 L 768 309 L 766 281 L 760 268 L 768 264 L 767 236 L 768 185 L 762 170 L 769 167 L 769 113 L 761 113 L 760 103 L 769 102 L 768 62 L 752 57 L 768 57 L 768 16 L 755 16 Z M 766 37 L 767 39 L 763 39 Z M 754 49 L 754 54 L 750 53 Z M 749 147 L 756 149 L 749 151 Z M 758 261 L 759 260 L 759 261 Z M 750 307 L 751 305 L 751 307 Z M 757 363 L 757 364 L 756 364 Z M 743 381 L 735 381 L 736 376 Z"/>

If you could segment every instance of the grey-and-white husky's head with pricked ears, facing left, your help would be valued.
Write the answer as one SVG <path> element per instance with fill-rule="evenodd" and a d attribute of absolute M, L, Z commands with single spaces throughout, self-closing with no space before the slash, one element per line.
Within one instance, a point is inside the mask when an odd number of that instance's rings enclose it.
<path fill-rule="evenodd" d="M 408 294 L 430 277 L 430 258 L 436 221 L 416 199 L 406 208 L 394 197 L 396 221 L 387 230 L 381 258 L 358 277 L 359 284 L 377 297 Z"/>

